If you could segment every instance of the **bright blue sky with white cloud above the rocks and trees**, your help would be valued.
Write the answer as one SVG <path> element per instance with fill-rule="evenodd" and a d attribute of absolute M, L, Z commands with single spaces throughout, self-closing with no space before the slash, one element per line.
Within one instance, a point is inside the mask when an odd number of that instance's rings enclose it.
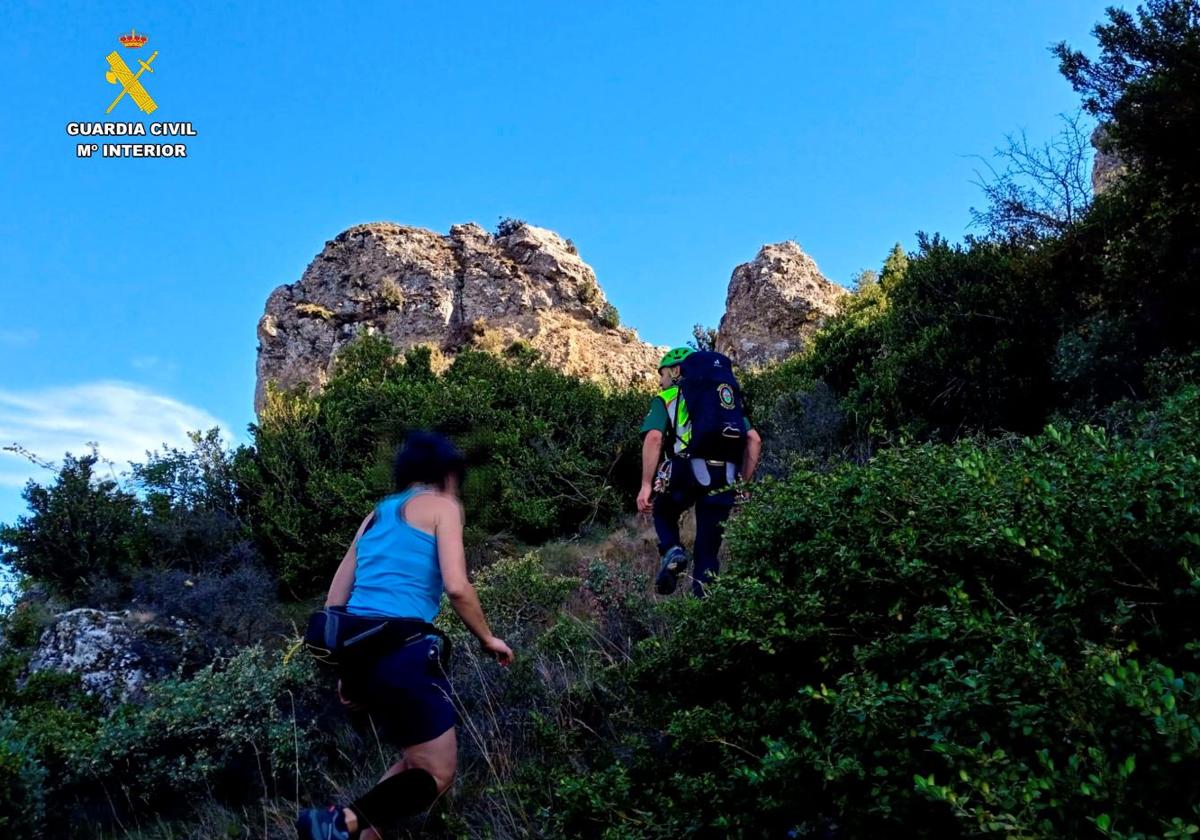
<path fill-rule="evenodd" d="M 848 283 L 967 232 L 972 156 L 1075 109 L 1048 47 L 1104 5 L 5 4 L 0 445 L 246 439 L 266 296 L 359 222 L 552 228 L 661 344 L 766 242 Z M 113 49 L 158 50 L 160 108 L 108 119 L 191 121 L 186 160 L 76 158 Z M 0 521 L 29 475 L 0 452 Z"/>

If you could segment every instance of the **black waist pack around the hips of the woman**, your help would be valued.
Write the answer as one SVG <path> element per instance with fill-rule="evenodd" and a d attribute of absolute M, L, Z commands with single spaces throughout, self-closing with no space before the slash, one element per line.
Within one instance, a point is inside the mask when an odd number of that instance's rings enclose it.
<path fill-rule="evenodd" d="M 354 616 L 346 607 L 325 607 L 308 617 L 304 644 L 318 662 L 340 667 L 426 636 L 438 637 L 442 667 L 448 667 L 450 637 L 420 618 L 374 618 Z"/>

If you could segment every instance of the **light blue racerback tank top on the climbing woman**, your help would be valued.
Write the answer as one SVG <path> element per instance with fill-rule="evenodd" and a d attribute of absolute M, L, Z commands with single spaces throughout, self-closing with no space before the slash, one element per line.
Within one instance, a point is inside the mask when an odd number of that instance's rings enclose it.
<path fill-rule="evenodd" d="M 442 604 L 442 568 L 433 534 L 404 522 L 404 503 L 428 492 L 412 487 L 376 506 L 374 522 L 359 538 L 354 587 L 346 610 L 355 616 L 432 622 Z"/>

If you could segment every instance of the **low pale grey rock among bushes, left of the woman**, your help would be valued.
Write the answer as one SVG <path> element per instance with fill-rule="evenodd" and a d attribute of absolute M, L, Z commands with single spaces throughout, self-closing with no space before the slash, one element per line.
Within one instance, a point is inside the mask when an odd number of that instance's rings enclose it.
<path fill-rule="evenodd" d="M 205 649 L 179 618 L 136 611 L 71 610 L 48 626 L 29 662 L 29 672 L 64 671 L 106 708 L 139 700 L 149 684 L 197 665 Z"/>

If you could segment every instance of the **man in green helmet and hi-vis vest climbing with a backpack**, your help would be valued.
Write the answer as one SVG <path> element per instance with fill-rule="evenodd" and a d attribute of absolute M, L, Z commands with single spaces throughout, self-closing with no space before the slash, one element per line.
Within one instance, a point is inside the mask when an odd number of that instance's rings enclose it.
<path fill-rule="evenodd" d="M 703 598 L 704 584 L 718 572 L 721 532 L 736 500 L 732 486 L 754 476 L 762 438 L 745 416 L 730 360 L 721 354 L 677 347 L 659 362 L 659 384 L 662 391 L 642 421 L 637 509 L 654 515 L 661 557 L 654 588 L 670 595 L 688 568 L 679 517 L 695 506 L 692 593 Z M 684 391 L 696 403 L 691 409 Z"/>

